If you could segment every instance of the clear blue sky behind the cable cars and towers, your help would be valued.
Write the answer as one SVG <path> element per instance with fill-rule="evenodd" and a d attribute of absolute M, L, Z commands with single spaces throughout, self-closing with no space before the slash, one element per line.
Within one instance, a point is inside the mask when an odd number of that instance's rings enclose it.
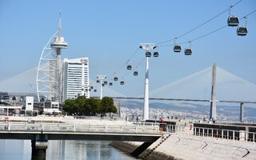
<path fill-rule="evenodd" d="M 38 66 L 43 47 L 58 27 L 62 10 L 62 36 L 69 43 L 62 58 L 90 58 L 90 78 L 112 74 L 134 53 L 141 42 L 162 42 L 184 34 L 226 10 L 238 0 L 130 0 L 130 1 L 14 1 L 0 0 L 0 82 Z M 256 1 L 243 0 L 231 14 L 243 17 L 256 9 Z M 178 39 L 186 42 L 226 25 L 228 12 Z M 242 20 L 241 24 L 245 21 Z M 158 49 L 150 58 L 150 90 L 174 82 L 214 62 L 225 70 L 256 83 L 256 14 L 247 19 L 249 33 L 236 35 L 226 27 L 192 43 L 193 54 L 174 54 L 172 46 Z M 173 42 L 163 45 L 170 45 Z M 189 46 L 184 44 L 182 48 Z M 131 60 L 136 66 L 145 53 Z M 114 86 L 128 95 L 143 93 L 145 62 L 138 78 L 125 77 L 126 86 Z M 117 76 L 122 77 L 122 69 Z"/>

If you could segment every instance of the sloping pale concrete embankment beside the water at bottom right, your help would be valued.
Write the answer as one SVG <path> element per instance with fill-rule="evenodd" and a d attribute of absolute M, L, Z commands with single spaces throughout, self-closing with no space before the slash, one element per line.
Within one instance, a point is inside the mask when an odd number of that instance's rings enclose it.
<path fill-rule="evenodd" d="M 255 160 L 256 143 L 222 140 L 219 138 L 202 138 L 193 135 L 171 134 L 169 138 L 161 142 L 161 138 L 154 142 L 148 150 L 139 155 L 147 160 Z M 114 146 L 129 148 L 131 152 L 141 143 L 115 142 Z M 125 145 L 124 145 L 125 144 Z M 158 146 L 159 144 L 159 146 Z M 154 147 L 156 149 L 150 153 Z M 118 147 L 120 148 L 120 147 Z M 148 154 L 150 153 L 150 154 Z"/>

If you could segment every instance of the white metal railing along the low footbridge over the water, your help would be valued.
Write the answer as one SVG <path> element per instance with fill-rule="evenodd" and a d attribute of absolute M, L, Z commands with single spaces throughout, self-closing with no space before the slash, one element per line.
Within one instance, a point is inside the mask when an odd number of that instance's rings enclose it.
<path fill-rule="evenodd" d="M 159 126 L 151 123 L 134 124 L 63 124 L 63 123 L 0 123 L 0 132 L 77 132 L 117 134 L 158 134 Z"/>

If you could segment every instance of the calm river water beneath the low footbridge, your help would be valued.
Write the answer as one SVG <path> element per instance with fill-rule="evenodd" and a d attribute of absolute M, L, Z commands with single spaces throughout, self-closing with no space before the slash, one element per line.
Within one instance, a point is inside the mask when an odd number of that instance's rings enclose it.
<path fill-rule="evenodd" d="M 100 141 L 48 141 L 46 160 L 137 159 Z M 31 160 L 30 140 L 0 140 L 0 160 Z"/>

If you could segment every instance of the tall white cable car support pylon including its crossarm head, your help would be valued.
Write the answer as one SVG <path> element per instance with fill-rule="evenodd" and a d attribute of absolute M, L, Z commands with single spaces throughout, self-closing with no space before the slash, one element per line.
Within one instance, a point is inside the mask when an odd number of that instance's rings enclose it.
<path fill-rule="evenodd" d="M 143 50 L 154 50 L 154 43 L 142 43 L 141 48 Z M 145 75 L 145 90 L 144 90 L 144 107 L 143 107 L 143 121 L 149 119 L 150 114 L 150 102 L 149 102 L 149 57 L 146 56 L 146 75 Z"/>

